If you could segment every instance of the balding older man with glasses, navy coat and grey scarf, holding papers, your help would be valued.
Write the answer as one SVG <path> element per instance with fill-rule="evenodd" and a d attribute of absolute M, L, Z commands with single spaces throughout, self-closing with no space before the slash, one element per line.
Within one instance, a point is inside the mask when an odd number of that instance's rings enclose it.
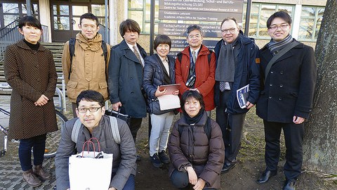
<path fill-rule="evenodd" d="M 258 46 L 239 30 L 235 18 L 225 18 L 220 25 L 223 39 L 217 44 L 216 122 L 223 132 L 225 162 L 221 172 L 230 171 L 237 164 L 242 128 L 246 112 L 258 101 L 260 92 Z M 237 89 L 249 84 L 249 96 L 244 108 L 237 101 Z"/>

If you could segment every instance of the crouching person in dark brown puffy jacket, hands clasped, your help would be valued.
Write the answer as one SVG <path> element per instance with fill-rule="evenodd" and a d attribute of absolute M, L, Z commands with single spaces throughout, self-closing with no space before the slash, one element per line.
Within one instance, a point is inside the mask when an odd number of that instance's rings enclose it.
<path fill-rule="evenodd" d="M 225 157 L 221 129 L 207 116 L 199 92 L 185 91 L 180 105 L 183 115 L 174 124 L 168 145 L 171 182 L 178 189 L 219 189 Z"/>

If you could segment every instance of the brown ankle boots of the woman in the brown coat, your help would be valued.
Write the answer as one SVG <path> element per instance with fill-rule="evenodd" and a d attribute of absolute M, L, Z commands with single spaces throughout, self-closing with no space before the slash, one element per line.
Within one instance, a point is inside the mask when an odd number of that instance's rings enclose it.
<path fill-rule="evenodd" d="M 51 179 L 51 174 L 45 172 L 42 165 L 34 165 L 34 172 L 32 169 L 23 171 L 22 177 L 30 186 L 40 186 L 42 184 L 40 177 L 43 180 Z"/>

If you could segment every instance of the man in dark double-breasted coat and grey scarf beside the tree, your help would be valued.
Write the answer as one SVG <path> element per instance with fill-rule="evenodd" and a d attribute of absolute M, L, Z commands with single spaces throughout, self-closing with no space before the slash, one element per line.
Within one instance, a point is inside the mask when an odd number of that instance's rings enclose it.
<path fill-rule="evenodd" d="M 291 18 L 288 13 L 279 11 L 271 15 L 267 28 L 272 39 L 260 49 L 264 86 L 256 105 L 256 113 L 265 126 L 267 168 L 257 182 L 263 184 L 277 174 L 279 137 L 283 129 L 286 141 L 284 189 L 295 189 L 303 160 L 303 122 L 312 110 L 316 61 L 312 47 L 297 42 L 289 34 Z M 273 57 L 276 61 L 269 63 Z"/>

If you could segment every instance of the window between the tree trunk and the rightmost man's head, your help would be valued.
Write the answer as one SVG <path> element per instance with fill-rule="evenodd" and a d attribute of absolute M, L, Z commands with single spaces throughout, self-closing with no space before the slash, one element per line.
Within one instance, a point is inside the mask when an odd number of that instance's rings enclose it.
<path fill-rule="evenodd" d="M 302 6 L 298 39 L 305 41 L 315 41 L 317 39 L 323 13 L 324 7 Z"/>

